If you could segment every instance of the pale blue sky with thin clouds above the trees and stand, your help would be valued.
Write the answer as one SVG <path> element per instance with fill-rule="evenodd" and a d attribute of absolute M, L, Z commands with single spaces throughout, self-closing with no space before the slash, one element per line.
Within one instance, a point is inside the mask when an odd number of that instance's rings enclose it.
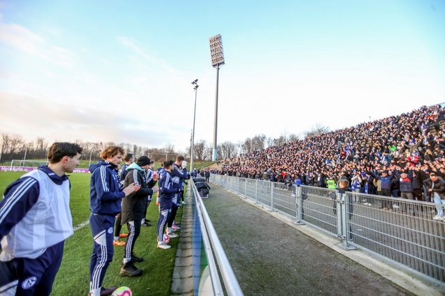
<path fill-rule="evenodd" d="M 445 101 L 445 2 L 1 1 L 0 132 L 184 149 Z"/>

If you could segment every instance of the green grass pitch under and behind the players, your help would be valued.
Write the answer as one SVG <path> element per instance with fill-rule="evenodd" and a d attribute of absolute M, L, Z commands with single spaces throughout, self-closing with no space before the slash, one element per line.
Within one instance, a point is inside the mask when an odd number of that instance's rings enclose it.
<path fill-rule="evenodd" d="M 23 175 L 24 172 L 0 172 L 0 192 L 6 186 Z M 90 174 L 72 173 L 70 209 L 74 227 L 90 216 Z M 177 220 L 181 218 L 181 208 Z M 156 248 L 156 224 L 159 211 L 155 202 L 149 205 L 147 218 L 152 220 L 150 227 L 142 227 L 136 241 L 134 252 L 144 258 L 136 266 L 143 270 L 140 277 L 120 277 L 119 271 L 124 256 L 124 247 L 114 247 L 113 262 L 106 271 L 104 286 L 129 286 L 133 295 L 170 295 L 172 273 L 175 265 L 175 254 L 178 238 L 172 238 L 169 250 Z M 122 227 L 127 232 L 127 227 Z M 126 238 L 124 238 L 126 240 Z M 65 241 L 65 252 L 62 265 L 54 281 L 51 295 L 87 295 L 90 287 L 89 263 L 92 252 L 92 236 L 89 225 L 81 227 Z"/>

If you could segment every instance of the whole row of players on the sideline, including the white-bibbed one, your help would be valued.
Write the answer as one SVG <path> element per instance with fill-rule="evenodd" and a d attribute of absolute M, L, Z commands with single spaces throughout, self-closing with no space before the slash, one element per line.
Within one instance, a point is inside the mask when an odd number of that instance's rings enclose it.
<path fill-rule="evenodd" d="M 76 143 L 56 142 L 49 148 L 49 165 L 26 173 L 11 183 L 0 201 L 0 295 L 50 295 L 63 258 L 65 239 L 74 234 L 70 211 L 70 180 L 79 164 L 82 148 Z M 146 216 L 149 198 L 159 192 L 157 247 L 169 249 L 165 238 L 173 234 L 183 184 L 189 175 L 182 167 L 184 157 L 167 161 L 158 173 L 152 161 L 142 156 L 124 169 L 119 182 L 118 167 L 124 150 L 105 148 L 101 161 L 90 166 L 90 228 L 93 251 L 90 260 L 89 295 L 111 295 L 116 289 L 102 287 L 109 263 L 113 260 L 115 218 L 129 229 L 120 275 L 136 276 L 141 271 L 133 263 L 143 259 L 133 247 Z M 156 182 L 159 186 L 156 186 Z M 164 236 L 167 225 L 167 236 Z M 175 227 L 179 228 L 179 227 Z M 116 229 L 119 235 L 120 229 Z"/>

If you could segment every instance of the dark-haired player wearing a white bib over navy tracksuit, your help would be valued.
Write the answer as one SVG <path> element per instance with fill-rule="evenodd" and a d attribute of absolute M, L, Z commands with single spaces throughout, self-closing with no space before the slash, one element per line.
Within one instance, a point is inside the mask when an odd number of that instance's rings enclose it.
<path fill-rule="evenodd" d="M 56 142 L 49 165 L 11 183 L 0 202 L 0 294 L 49 295 L 72 236 L 70 180 L 82 148 Z"/>

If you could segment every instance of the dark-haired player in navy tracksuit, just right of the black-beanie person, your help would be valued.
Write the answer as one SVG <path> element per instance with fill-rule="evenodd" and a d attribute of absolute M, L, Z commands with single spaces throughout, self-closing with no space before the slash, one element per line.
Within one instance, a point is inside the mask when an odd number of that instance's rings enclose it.
<path fill-rule="evenodd" d="M 179 188 L 173 188 L 172 182 L 173 161 L 164 162 L 164 170 L 159 177 L 159 220 L 158 220 L 158 245 L 159 249 L 170 249 L 164 241 L 165 224 L 167 223 L 168 213 L 172 208 L 172 199 Z"/>

